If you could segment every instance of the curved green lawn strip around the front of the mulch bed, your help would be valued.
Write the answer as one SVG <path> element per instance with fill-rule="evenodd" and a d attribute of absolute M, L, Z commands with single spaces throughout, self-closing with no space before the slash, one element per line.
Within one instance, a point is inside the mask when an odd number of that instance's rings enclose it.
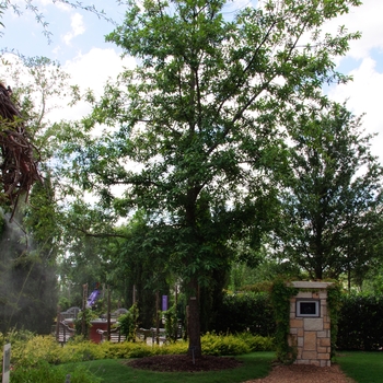
<path fill-rule="evenodd" d="M 152 372 L 132 369 L 121 360 L 93 360 L 83 362 L 104 383 L 239 383 L 251 379 L 264 378 L 271 369 L 274 352 L 253 352 L 236 357 L 243 365 L 222 371 L 209 372 Z"/>

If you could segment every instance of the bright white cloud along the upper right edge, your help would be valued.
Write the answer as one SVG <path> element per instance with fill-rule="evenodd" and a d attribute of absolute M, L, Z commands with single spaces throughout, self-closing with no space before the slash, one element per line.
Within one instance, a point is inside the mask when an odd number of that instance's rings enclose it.
<path fill-rule="evenodd" d="M 344 24 L 349 32 L 362 33 L 359 40 L 350 43 L 350 50 L 345 57 L 360 62 L 346 73 L 352 76 L 353 81 L 334 86 L 328 95 L 340 103 L 347 101 L 348 108 L 356 115 L 365 114 L 362 120 L 363 128 L 368 132 L 379 134 L 372 141 L 372 152 L 379 155 L 383 163 L 383 72 L 379 69 L 381 66 L 378 66 L 383 62 L 382 14 L 383 1 L 364 0 L 362 5 L 351 9 L 349 14 L 336 20 L 337 25 Z M 341 65 L 343 59 L 337 62 Z"/>

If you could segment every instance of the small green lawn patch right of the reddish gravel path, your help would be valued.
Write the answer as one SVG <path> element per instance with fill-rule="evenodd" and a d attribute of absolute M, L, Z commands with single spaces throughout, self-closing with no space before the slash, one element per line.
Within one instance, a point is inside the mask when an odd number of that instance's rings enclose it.
<path fill-rule="evenodd" d="M 383 382 L 383 352 L 338 352 L 336 362 L 358 383 Z"/>

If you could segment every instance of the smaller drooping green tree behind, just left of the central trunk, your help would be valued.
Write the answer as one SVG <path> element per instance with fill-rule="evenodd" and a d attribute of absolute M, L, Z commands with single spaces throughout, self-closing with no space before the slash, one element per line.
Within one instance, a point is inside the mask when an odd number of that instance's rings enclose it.
<path fill-rule="evenodd" d="M 169 295 L 170 286 L 174 286 L 176 279 L 169 265 L 169 236 L 151 227 L 142 211 L 119 227 L 116 233 L 119 237 L 113 246 L 114 280 L 124 292 L 127 306 L 136 300 L 139 325 L 153 327 L 156 324 L 156 304 L 161 310 L 156 297 Z"/>

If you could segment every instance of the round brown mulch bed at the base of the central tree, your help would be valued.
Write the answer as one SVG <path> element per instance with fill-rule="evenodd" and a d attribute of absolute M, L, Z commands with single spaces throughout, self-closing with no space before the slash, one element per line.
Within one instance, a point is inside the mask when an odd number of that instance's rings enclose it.
<path fill-rule="evenodd" d="M 242 362 L 234 358 L 202 356 L 193 363 L 193 359 L 186 355 L 162 355 L 136 359 L 127 362 L 136 369 L 165 371 L 165 372 L 198 372 L 234 369 Z"/>

